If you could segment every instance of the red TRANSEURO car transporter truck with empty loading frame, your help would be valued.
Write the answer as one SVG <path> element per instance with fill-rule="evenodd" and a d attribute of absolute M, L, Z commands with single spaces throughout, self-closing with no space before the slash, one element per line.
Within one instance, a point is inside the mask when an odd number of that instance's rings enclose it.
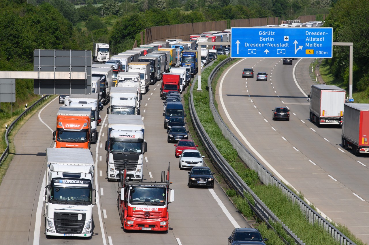
<path fill-rule="evenodd" d="M 174 190 L 169 186 L 168 171 L 162 171 L 161 181 L 133 182 L 120 175 L 118 183 L 118 211 L 124 230 L 168 231 L 169 203 L 174 201 Z"/>

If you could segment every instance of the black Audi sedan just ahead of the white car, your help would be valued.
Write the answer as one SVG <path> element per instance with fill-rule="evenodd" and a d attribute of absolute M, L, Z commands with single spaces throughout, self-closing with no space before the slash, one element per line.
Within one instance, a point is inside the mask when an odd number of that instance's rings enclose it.
<path fill-rule="evenodd" d="M 194 166 L 191 169 L 191 172 L 188 172 L 188 187 L 193 186 L 210 186 L 210 188 L 214 188 L 214 173 L 211 172 L 208 167 L 196 167 Z"/>

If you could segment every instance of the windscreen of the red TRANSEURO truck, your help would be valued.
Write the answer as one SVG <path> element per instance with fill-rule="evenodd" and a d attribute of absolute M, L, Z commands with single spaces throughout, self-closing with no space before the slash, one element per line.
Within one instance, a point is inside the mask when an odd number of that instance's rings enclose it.
<path fill-rule="evenodd" d="M 142 205 L 166 204 L 166 189 L 164 187 L 141 187 L 134 186 L 129 192 L 130 203 Z"/>

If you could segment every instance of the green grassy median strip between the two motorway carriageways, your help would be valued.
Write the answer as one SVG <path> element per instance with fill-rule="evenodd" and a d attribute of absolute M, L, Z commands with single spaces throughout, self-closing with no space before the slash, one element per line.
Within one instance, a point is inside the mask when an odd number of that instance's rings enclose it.
<path fill-rule="evenodd" d="M 214 121 L 213 114 L 211 113 L 209 107 L 209 94 L 207 91 L 207 79 L 210 75 L 210 72 L 218 65 L 220 61 L 216 61 L 214 65 L 206 68 L 201 75 L 201 89 L 203 92 L 197 92 L 193 90 L 193 101 L 194 106 L 196 108 L 197 115 L 201 121 L 201 124 L 205 128 L 207 134 L 213 141 L 213 144 L 217 147 L 218 151 L 223 155 L 223 157 L 227 160 L 227 162 L 235 169 L 238 175 L 245 181 L 246 184 L 255 192 L 255 194 L 269 207 L 273 213 L 276 214 L 277 217 L 280 218 L 284 222 L 285 225 L 292 230 L 297 237 L 299 237 L 306 245 L 335 245 L 339 244 L 338 241 L 335 241 L 320 225 L 315 223 L 314 225 L 310 224 L 306 218 L 306 215 L 301 212 L 300 207 L 293 203 L 285 194 L 282 193 L 276 186 L 266 186 L 260 184 L 258 175 L 254 170 L 247 169 L 244 166 L 244 163 L 239 161 L 237 151 L 232 147 L 231 143 L 224 138 L 220 128 Z M 222 72 L 231 65 L 231 62 L 221 68 L 220 72 L 218 72 L 217 77 L 215 77 L 212 87 L 216 87 L 216 83 L 218 77 Z M 197 87 L 197 82 L 192 84 L 192 86 Z M 213 91 L 215 93 L 215 91 Z M 189 93 L 184 95 L 186 101 L 186 107 L 188 108 L 188 96 Z M 244 206 L 247 206 L 246 200 L 242 203 L 241 200 L 238 200 L 237 197 L 233 197 L 232 199 L 237 208 L 242 211 L 242 213 L 248 217 L 249 210 Z M 269 241 L 266 244 L 280 244 L 280 238 L 278 236 L 272 236 L 269 232 L 266 232 L 268 229 L 263 229 L 263 224 L 260 226 L 260 230 L 262 231 L 262 235 L 267 237 Z M 280 224 L 272 224 L 275 230 L 279 231 L 280 235 L 293 244 L 292 238 L 288 237 L 287 234 L 282 232 L 282 228 Z M 363 242 L 355 239 L 348 230 L 342 231 L 344 234 L 356 242 L 356 244 L 363 244 Z M 284 234 L 283 234 L 284 233 Z"/>

